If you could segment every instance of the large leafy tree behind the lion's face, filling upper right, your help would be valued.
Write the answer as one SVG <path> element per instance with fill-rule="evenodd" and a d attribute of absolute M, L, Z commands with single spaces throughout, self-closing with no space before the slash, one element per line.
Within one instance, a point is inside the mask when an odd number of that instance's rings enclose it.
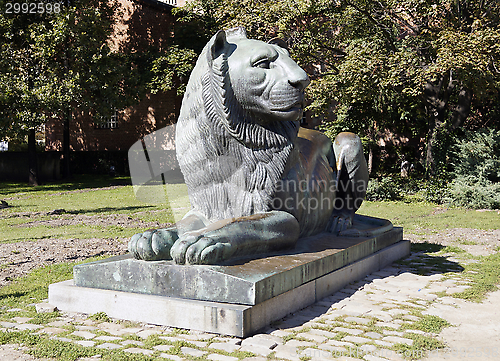
<path fill-rule="evenodd" d="M 494 0 L 197 0 L 211 33 L 243 25 L 283 38 L 309 73 L 309 110 L 324 129 L 375 143 L 386 129 L 424 137 L 426 174 L 444 170 L 449 135 L 498 98 L 500 3 Z"/>

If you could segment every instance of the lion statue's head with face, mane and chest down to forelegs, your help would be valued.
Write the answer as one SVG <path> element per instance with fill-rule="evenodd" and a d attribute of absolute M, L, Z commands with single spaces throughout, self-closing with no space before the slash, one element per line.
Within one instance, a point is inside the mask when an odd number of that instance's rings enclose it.
<path fill-rule="evenodd" d="M 219 31 L 191 74 L 177 158 L 193 208 L 210 220 L 270 210 L 293 149 L 307 74 L 279 42 Z"/>

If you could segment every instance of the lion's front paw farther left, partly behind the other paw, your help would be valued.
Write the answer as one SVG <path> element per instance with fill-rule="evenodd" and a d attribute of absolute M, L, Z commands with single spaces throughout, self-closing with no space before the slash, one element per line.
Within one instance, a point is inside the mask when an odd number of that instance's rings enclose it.
<path fill-rule="evenodd" d="M 177 240 L 177 232 L 170 229 L 156 229 L 138 233 L 128 242 L 128 251 L 136 259 L 145 261 L 168 260 L 170 249 Z"/>

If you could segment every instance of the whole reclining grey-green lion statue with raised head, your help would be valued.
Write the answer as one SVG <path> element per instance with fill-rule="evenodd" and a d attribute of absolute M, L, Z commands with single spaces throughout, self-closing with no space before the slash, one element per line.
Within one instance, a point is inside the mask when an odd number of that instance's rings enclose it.
<path fill-rule="evenodd" d="M 137 259 L 218 264 L 352 228 L 368 182 L 360 139 L 299 127 L 307 74 L 283 41 L 219 31 L 189 79 L 176 153 L 192 209 L 134 235 Z"/>

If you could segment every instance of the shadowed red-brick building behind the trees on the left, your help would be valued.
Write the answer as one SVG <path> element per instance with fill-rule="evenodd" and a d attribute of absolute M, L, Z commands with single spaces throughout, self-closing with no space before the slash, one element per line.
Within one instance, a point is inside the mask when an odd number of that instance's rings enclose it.
<path fill-rule="evenodd" d="M 116 35 L 110 40 L 114 50 L 140 51 L 149 45 L 165 48 L 173 36 L 172 8 L 182 0 L 119 0 L 123 17 L 117 19 Z M 117 109 L 106 124 L 97 125 L 91 117 L 75 111 L 70 122 L 72 151 L 127 151 L 138 139 L 175 123 L 181 104 L 175 91 L 148 94 L 141 102 Z M 61 151 L 63 122 L 45 126 L 45 149 Z"/>

